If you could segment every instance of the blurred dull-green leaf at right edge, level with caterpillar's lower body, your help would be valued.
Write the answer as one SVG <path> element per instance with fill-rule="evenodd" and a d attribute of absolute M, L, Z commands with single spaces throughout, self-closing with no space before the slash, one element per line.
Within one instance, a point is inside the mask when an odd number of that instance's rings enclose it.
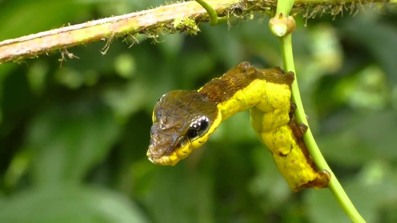
<path fill-rule="evenodd" d="M 397 159 L 397 150 L 393 149 L 395 131 L 391 131 L 397 129 L 395 111 L 367 112 L 335 119 L 341 124 L 333 128 L 333 133 L 317 137 L 321 151 L 332 162 L 357 166 L 370 159 Z"/>

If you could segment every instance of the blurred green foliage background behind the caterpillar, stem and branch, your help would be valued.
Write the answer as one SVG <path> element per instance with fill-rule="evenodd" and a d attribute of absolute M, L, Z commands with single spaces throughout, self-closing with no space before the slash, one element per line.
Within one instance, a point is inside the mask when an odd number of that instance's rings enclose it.
<path fill-rule="evenodd" d="M 0 41 L 163 0 L 0 0 Z M 293 47 L 315 138 L 368 222 L 397 222 L 397 13 L 297 18 Z M 138 37 L 0 65 L 0 222 L 349 222 L 328 190 L 293 193 L 248 112 L 175 167 L 146 158 L 151 112 L 242 61 L 281 65 L 268 18 Z"/>

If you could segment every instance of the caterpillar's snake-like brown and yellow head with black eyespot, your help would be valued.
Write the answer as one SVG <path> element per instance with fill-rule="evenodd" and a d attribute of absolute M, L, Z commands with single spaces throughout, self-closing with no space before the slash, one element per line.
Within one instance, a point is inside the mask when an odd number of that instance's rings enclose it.
<path fill-rule="evenodd" d="M 161 165 L 175 165 L 201 146 L 222 119 L 216 104 L 197 91 L 175 90 L 154 106 L 147 156 Z"/>

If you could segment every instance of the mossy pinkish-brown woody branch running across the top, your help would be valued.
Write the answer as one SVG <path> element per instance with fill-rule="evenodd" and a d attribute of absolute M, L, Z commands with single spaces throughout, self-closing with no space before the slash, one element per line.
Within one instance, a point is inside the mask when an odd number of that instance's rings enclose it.
<path fill-rule="evenodd" d="M 364 4 L 363 0 L 296 0 L 294 7 L 315 7 L 326 3 L 326 6 L 332 9 L 332 6 L 340 8 L 342 5 L 354 4 L 355 1 Z M 218 16 L 273 10 L 277 4 L 276 0 L 208 0 L 207 2 L 218 13 Z M 389 2 L 389 0 L 374 0 L 373 2 Z M 184 32 L 189 27 L 175 26 L 174 22 L 177 19 L 187 18 L 192 19 L 194 24 L 209 20 L 208 14 L 200 4 L 189 1 L 4 40 L 0 42 L 0 64 L 9 61 L 17 62 L 54 50 L 125 35 L 133 37 L 139 33 L 158 35 Z"/>

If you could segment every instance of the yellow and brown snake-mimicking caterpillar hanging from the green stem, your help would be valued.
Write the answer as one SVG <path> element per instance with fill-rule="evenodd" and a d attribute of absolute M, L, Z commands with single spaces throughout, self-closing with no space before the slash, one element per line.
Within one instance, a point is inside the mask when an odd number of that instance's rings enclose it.
<path fill-rule="evenodd" d="M 174 90 L 154 106 L 147 156 L 152 163 L 175 165 L 204 144 L 220 123 L 249 110 L 251 124 L 293 191 L 325 188 L 328 171 L 319 171 L 303 142 L 307 130 L 297 124 L 291 103 L 293 72 L 257 69 L 239 63 L 198 90 Z"/>

